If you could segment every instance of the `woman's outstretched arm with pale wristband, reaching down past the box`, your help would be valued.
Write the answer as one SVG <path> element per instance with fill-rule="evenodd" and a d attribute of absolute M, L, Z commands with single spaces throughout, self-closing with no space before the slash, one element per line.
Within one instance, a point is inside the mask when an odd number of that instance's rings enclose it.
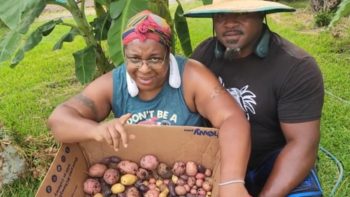
<path fill-rule="evenodd" d="M 197 61 L 184 71 L 185 100 L 219 128 L 221 172 L 219 182 L 244 180 L 250 155 L 250 127 L 243 111 L 217 78 Z M 244 184 L 220 186 L 220 197 L 249 196 Z"/>

